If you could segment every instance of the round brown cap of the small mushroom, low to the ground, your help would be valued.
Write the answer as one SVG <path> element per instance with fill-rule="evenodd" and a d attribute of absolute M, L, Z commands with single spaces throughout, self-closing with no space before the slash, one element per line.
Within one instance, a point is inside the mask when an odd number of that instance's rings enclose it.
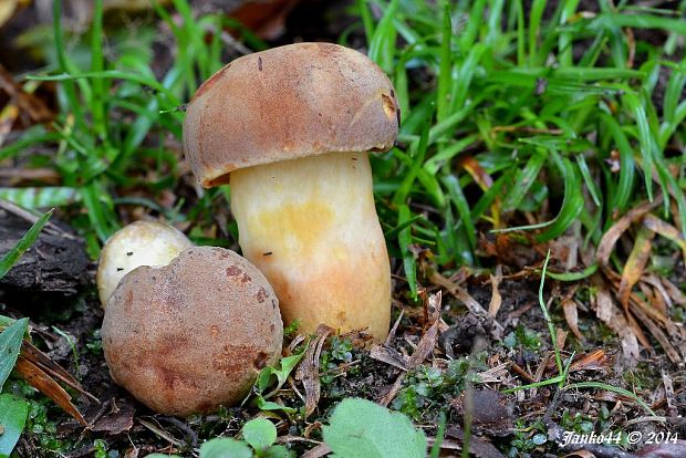
<path fill-rule="evenodd" d="M 240 403 L 280 356 L 283 324 L 254 266 L 230 250 L 196 247 L 124 277 L 102 337 L 118 385 L 153 410 L 186 416 Z"/>

